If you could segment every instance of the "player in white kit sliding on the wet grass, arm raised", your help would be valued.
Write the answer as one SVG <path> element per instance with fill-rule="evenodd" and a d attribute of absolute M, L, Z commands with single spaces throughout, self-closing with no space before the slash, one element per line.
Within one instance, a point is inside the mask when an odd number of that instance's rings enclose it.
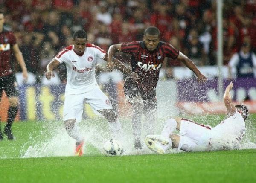
<path fill-rule="evenodd" d="M 145 144 L 152 151 L 164 154 L 169 148 L 183 151 L 211 151 L 239 148 L 244 137 L 245 120 L 248 109 L 244 105 L 234 105 L 230 90 L 233 82 L 224 93 L 224 104 L 229 117 L 215 127 L 201 125 L 184 118 L 171 118 L 166 121 L 161 135 L 148 135 Z M 179 134 L 174 134 L 177 129 Z"/>

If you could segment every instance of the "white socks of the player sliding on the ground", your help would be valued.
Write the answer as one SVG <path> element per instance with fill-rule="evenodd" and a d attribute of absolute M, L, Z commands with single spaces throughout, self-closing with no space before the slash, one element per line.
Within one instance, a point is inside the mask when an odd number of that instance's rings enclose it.
<path fill-rule="evenodd" d="M 177 122 L 175 121 L 175 119 L 170 118 L 166 121 L 166 124 L 163 127 L 161 135 L 163 135 L 164 137 L 167 137 L 169 140 L 169 143 L 168 145 L 160 144 L 165 151 L 172 146 L 172 140 L 169 138 L 169 136 L 172 134 L 173 131 L 175 131 L 176 128 L 177 128 Z"/>

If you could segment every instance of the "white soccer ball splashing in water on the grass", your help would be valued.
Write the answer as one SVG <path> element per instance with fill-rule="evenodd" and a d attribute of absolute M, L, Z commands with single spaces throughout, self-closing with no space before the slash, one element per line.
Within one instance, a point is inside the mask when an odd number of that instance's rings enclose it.
<path fill-rule="evenodd" d="M 107 154 L 110 155 L 122 155 L 123 153 L 123 148 L 121 143 L 118 140 L 108 140 L 107 142 L 105 142 L 104 144 L 104 150 L 106 151 Z"/>

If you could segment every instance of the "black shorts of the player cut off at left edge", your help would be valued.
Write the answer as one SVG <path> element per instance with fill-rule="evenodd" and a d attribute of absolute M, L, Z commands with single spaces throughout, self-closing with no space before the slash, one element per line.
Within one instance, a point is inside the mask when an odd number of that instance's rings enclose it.
<path fill-rule="evenodd" d="M 3 90 L 8 97 L 19 96 L 19 91 L 17 90 L 17 81 L 14 74 L 0 77 L 0 99 L 3 94 Z"/>

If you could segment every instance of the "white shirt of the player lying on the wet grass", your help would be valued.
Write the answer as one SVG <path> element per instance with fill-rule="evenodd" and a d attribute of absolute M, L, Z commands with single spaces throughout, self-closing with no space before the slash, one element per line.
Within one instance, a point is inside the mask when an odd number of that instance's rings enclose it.
<path fill-rule="evenodd" d="M 236 111 L 233 116 L 212 128 L 212 147 L 218 150 L 237 148 L 244 137 L 245 122 L 241 114 Z"/>

